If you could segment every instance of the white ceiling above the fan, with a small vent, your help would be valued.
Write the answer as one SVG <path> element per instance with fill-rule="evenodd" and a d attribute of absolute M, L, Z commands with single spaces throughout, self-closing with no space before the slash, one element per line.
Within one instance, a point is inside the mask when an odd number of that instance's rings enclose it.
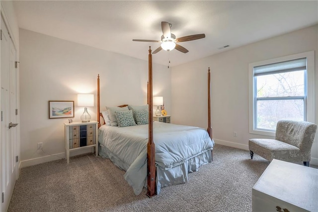
<path fill-rule="evenodd" d="M 148 60 L 160 43 L 161 21 L 176 37 L 205 33 L 200 40 L 178 43 L 189 50 L 153 55 L 170 66 L 233 49 L 318 23 L 318 1 L 14 1 L 20 28 Z M 230 47 L 219 50 L 219 47 Z"/>

